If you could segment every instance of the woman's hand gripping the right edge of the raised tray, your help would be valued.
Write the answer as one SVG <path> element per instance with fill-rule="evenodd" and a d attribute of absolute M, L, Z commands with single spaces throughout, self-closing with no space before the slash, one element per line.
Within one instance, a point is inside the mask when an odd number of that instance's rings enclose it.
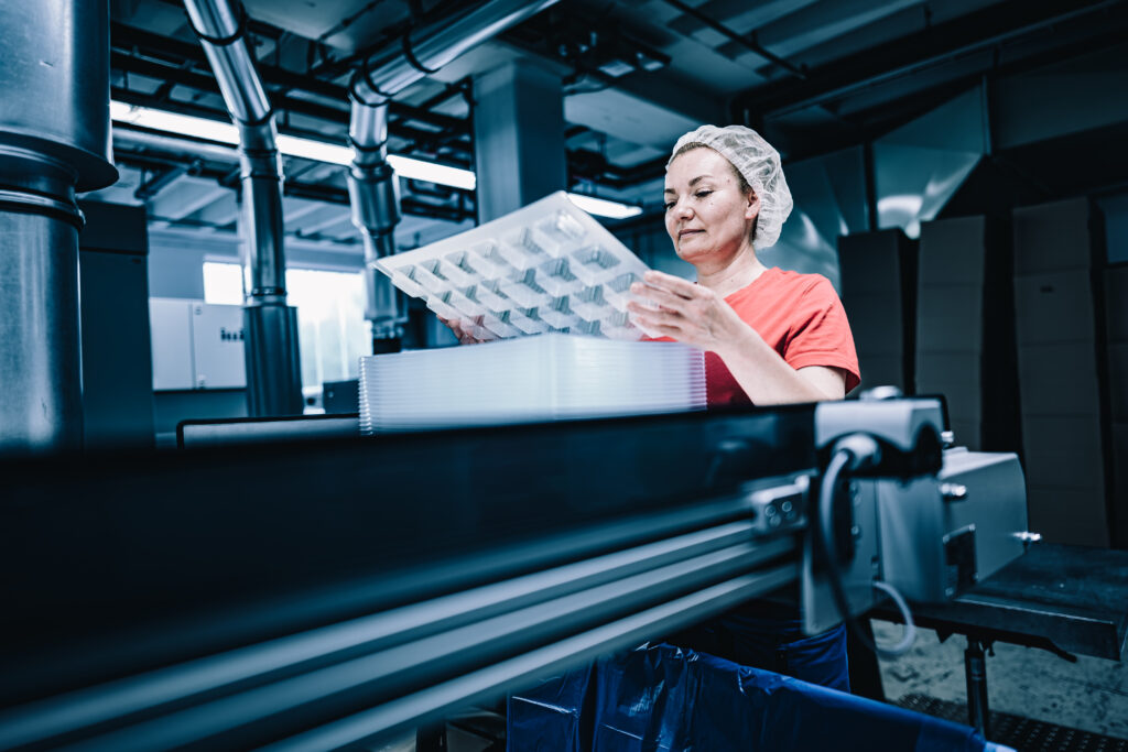
<path fill-rule="evenodd" d="M 631 319 L 652 336 L 723 354 L 754 331 L 715 292 L 671 274 L 646 272 L 631 292 L 656 306 L 627 303 Z"/>

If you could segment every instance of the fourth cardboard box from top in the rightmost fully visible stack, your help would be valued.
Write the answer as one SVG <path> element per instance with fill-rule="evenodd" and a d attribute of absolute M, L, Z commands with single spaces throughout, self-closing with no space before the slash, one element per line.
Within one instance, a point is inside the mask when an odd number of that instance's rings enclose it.
<path fill-rule="evenodd" d="M 1033 486 L 1104 488 L 1101 423 L 1092 417 L 1030 416 L 1022 421 L 1022 457 Z"/>

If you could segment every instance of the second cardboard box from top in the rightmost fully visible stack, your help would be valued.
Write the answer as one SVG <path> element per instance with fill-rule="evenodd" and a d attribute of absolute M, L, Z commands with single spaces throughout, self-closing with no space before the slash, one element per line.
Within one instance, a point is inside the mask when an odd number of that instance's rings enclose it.
<path fill-rule="evenodd" d="M 1015 334 L 1028 343 L 1092 340 L 1095 337 L 1089 271 L 1015 277 Z"/>

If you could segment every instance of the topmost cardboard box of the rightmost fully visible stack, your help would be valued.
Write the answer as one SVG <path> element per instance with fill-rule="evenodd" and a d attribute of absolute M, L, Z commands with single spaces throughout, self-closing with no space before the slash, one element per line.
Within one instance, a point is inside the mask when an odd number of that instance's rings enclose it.
<path fill-rule="evenodd" d="M 1068 198 L 1011 213 L 1014 274 L 1087 269 L 1093 265 L 1087 198 Z"/>

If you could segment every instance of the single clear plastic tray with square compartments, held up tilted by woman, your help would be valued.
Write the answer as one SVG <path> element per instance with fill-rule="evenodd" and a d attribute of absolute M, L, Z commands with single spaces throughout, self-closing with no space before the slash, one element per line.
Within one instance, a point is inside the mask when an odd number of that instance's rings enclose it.
<path fill-rule="evenodd" d="M 563 192 L 373 265 L 479 339 L 548 331 L 642 338 L 626 303 L 646 265 Z"/>

